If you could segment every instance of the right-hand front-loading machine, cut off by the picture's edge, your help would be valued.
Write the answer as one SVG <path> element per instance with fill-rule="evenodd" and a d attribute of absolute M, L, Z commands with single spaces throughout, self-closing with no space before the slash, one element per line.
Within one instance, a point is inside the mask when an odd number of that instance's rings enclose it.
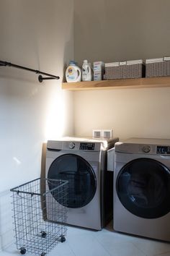
<path fill-rule="evenodd" d="M 170 140 L 115 144 L 114 229 L 170 242 Z"/>

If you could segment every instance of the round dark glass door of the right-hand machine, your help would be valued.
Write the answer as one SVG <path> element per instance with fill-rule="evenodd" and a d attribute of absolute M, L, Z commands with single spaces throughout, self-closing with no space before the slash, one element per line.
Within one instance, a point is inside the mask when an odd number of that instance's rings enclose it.
<path fill-rule="evenodd" d="M 156 160 L 138 158 L 122 167 L 117 196 L 135 216 L 159 218 L 170 210 L 170 171 Z"/>

